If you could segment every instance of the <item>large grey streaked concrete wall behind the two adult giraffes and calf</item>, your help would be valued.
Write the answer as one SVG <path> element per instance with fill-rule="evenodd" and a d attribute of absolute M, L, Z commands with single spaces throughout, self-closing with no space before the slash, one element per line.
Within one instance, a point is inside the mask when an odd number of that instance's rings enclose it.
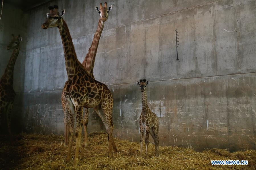
<path fill-rule="evenodd" d="M 63 134 L 61 91 L 67 80 L 57 28 L 43 30 L 48 6 L 65 8 L 76 53 L 91 45 L 100 1 L 52 1 L 28 13 L 22 124 Z M 141 92 L 160 120 L 161 145 L 256 149 L 256 1 L 108 1 L 94 75 L 114 97 L 117 137 L 138 141 Z M 176 60 L 175 30 L 179 32 Z M 104 129 L 95 114 L 89 131 Z M 153 140 L 151 140 L 153 142 Z"/>

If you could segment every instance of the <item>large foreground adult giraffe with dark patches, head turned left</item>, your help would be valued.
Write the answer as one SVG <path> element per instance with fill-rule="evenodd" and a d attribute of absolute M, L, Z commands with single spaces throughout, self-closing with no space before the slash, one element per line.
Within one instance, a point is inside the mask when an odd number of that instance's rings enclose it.
<path fill-rule="evenodd" d="M 69 118 L 69 143 L 67 162 L 71 159 L 72 139 L 73 139 L 73 126 L 74 115 L 76 116 L 76 147 L 74 166 L 78 164 L 78 151 L 81 141 L 81 125 L 83 119 L 83 107 L 101 109 L 99 116 L 105 125 L 106 131 L 109 135 L 108 140 L 108 156 L 112 156 L 112 146 L 114 152 L 117 152 L 114 138 L 113 138 L 113 96 L 108 89 L 107 85 L 93 79 L 85 70 L 84 66 L 78 61 L 75 53 L 75 48 L 72 42 L 69 29 L 66 22 L 62 18 L 65 14 L 65 9 L 60 13 L 58 12 L 58 6 L 49 7 L 50 13 L 47 13 L 47 18 L 43 29 L 57 27 L 60 31 L 62 38 L 62 44 L 64 49 L 65 65 L 67 70 L 68 81 L 64 86 L 64 94 L 67 99 L 67 111 Z"/>

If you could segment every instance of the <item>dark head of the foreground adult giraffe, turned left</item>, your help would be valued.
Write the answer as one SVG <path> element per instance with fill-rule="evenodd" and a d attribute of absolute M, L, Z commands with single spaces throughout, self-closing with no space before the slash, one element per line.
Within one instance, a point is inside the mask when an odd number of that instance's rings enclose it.
<path fill-rule="evenodd" d="M 42 24 L 43 29 L 58 27 L 62 23 L 62 16 L 65 14 L 65 9 L 63 9 L 60 13 L 58 12 L 58 5 L 48 7 L 50 13 L 47 13 L 46 20 L 44 24 Z"/>

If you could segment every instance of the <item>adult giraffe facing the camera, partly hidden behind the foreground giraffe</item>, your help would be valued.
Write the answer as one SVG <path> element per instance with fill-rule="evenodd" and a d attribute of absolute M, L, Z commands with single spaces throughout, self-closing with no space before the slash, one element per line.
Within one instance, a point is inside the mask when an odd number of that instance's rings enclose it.
<path fill-rule="evenodd" d="M 93 36 L 93 42 L 91 43 L 91 47 L 89 48 L 89 51 L 87 55 L 85 56 L 85 59 L 83 61 L 83 66 L 85 67 L 86 72 L 91 75 L 91 77 L 94 79 L 93 75 L 93 68 L 94 68 L 94 62 L 95 62 L 95 56 L 97 54 L 97 49 L 99 45 L 99 40 L 101 38 L 101 33 L 104 28 L 104 22 L 108 19 L 108 12 L 112 10 L 112 5 L 107 7 L 107 3 L 105 2 L 105 6 L 102 6 L 102 3 L 100 3 L 100 8 L 95 6 L 95 9 L 100 14 L 100 19 L 98 23 L 97 30 Z M 64 138 L 65 138 L 65 144 L 68 143 L 68 112 L 66 108 L 67 99 L 65 98 L 64 91 L 62 91 L 62 108 L 64 110 L 64 125 L 65 125 L 65 132 L 64 132 Z M 95 109 L 97 112 L 97 110 Z M 84 144 L 85 146 L 88 145 L 88 139 L 87 139 L 87 124 L 88 124 L 88 117 L 89 117 L 89 109 L 85 108 L 85 115 L 83 120 L 83 126 L 84 126 L 84 133 L 85 133 L 85 140 Z"/>

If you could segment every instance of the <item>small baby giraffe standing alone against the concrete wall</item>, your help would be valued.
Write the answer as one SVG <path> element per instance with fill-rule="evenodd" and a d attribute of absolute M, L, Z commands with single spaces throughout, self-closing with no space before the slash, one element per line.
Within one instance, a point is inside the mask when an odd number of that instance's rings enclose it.
<path fill-rule="evenodd" d="M 154 139 L 155 143 L 155 156 L 159 156 L 159 137 L 158 137 L 158 129 L 159 129 L 159 120 L 153 112 L 148 107 L 147 93 L 146 87 L 148 85 L 148 81 L 146 79 L 140 79 L 140 82 L 137 81 L 137 85 L 140 86 L 140 91 L 142 92 L 142 111 L 140 115 L 140 156 L 142 156 L 142 146 L 144 140 L 144 133 L 146 131 L 146 158 L 148 157 L 148 138 L 149 133 Z"/>

